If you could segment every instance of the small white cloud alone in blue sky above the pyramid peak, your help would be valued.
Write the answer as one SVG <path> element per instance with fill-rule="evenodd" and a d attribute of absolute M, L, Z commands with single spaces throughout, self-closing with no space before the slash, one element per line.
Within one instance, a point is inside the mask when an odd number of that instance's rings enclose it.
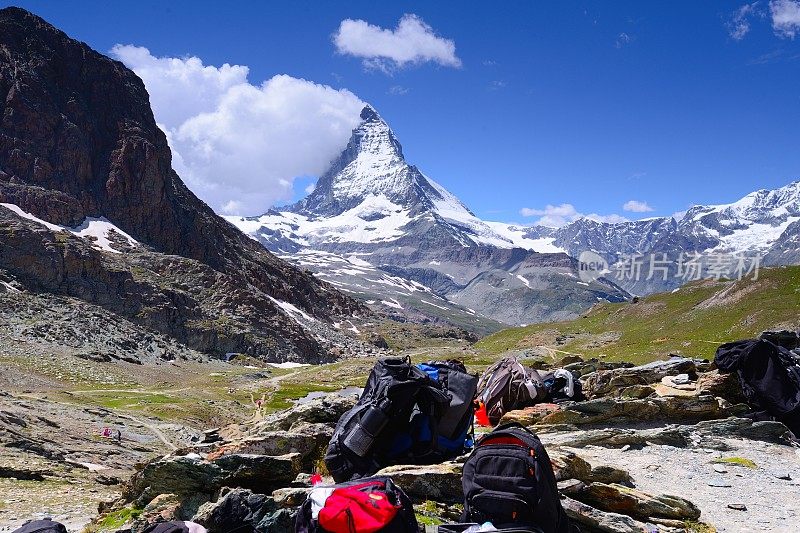
<path fill-rule="evenodd" d="M 460 67 L 456 45 L 439 37 L 420 17 L 406 14 L 395 29 L 384 29 L 364 20 L 345 19 L 333 35 L 340 54 L 362 58 L 364 66 L 390 72 L 426 62 Z"/>

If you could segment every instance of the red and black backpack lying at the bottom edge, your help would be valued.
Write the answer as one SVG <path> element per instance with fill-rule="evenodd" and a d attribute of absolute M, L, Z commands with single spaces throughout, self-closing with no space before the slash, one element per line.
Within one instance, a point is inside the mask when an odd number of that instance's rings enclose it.
<path fill-rule="evenodd" d="M 383 476 L 315 486 L 295 522 L 295 533 L 417 533 L 418 528 L 411 500 Z"/>

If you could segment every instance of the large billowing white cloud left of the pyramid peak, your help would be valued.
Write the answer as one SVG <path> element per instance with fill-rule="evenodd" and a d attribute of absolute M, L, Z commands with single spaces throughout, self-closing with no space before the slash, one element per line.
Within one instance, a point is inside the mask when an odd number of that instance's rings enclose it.
<path fill-rule="evenodd" d="M 135 46 L 111 54 L 144 80 L 173 168 L 225 214 L 260 214 L 290 200 L 294 178 L 326 169 L 364 106 L 348 90 L 287 75 L 252 85 L 241 65 L 158 58 Z"/>

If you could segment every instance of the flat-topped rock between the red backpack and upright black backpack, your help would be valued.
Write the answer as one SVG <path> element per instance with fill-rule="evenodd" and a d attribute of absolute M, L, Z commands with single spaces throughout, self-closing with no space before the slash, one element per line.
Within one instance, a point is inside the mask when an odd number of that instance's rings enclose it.
<path fill-rule="evenodd" d="M 390 476 L 415 503 L 426 500 L 463 503 L 462 467 L 462 464 L 456 462 L 438 465 L 397 465 L 386 467 L 375 475 Z"/>

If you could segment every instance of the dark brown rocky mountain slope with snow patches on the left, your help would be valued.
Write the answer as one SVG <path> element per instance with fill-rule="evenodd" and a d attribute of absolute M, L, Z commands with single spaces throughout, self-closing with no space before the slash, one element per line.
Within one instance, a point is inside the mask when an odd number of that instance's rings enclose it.
<path fill-rule="evenodd" d="M 0 269 L 17 290 L 75 297 L 209 354 L 269 360 L 330 359 L 344 342 L 332 340 L 334 319 L 368 313 L 186 188 L 122 63 L 6 8 L 0 96 Z"/>

